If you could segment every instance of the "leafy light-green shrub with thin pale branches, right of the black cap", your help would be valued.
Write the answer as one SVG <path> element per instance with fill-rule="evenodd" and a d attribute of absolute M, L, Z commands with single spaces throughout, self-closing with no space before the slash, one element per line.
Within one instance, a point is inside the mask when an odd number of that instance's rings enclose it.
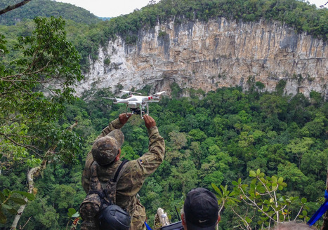
<path fill-rule="evenodd" d="M 275 223 L 302 219 L 308 221 L 308 206 L 306 198 L 287 196 L 282 193 L 287 184 L 283 177 L 266 177 L 261 170 L 250 170 L 250 183 L 242 184 L 242 179 L 233 181 L 233 191 L 228 186 L 221 189 L 211 184 L 218 194 L 221 210 L 230 208 L 240 218 L 240 229 L 270 229 Z M 239 203 L 239 205 L 237 205 Z M 243 210 L 243 204 L 246 210 Z M 258 215 L 261 214 L 260 216 Z M 257 223 L 255 220 L 258 220 Z M 254 223 L 255 222 L 255 223 Z"/>

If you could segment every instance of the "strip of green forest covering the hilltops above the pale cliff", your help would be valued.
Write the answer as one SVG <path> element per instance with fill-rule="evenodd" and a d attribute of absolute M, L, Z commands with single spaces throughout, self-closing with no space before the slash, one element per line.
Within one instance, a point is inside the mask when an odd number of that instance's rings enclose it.
<path fill-rule="evenodd" d="M 13 0 L 2 1 L 0 8 L 12 3 Z M 119 35 L 126 43 L 134 45 L 140 29 L 153 28 L 157 22 L 173 19 L 176 24 L 215 20 L 218 17 L 244 22 L 277 20 L 294 27 L 296 32 L 306 32 L 324 41 L 328 39 L 327 8 L 317 9 L 314 5 L 298 0 L 162 0 L 158 4 L 151 4 L 150 1 L 140 10 L 105 21 L 70 4 L 33 0 L 2 15 L 2 18 L 0 15 L 0 32 L 15 33 L 15 36 L 27 35 L 32 32 L 29 20 L 51 15 L 61 16 L 67 21 L 67 39 L 81 54 L 80 64 L 84 72 L 88 71 L 88 57 L 97 59 L 99 44 L 105 47 L 108 39 L 115 39 Z M 11 26 L 13 22 L 14 27 Z"/>

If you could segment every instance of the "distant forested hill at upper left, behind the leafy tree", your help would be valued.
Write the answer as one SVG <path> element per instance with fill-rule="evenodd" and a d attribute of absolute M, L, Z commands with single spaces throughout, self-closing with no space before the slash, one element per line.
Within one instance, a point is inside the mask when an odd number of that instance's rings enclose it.
<path fill-rule="evenodd" d="M 0 8 L 6 8 L 17 4 L 17 0 L 0 1 Z M 0 25 L 15 25 L 26 19 L 33 19 L 37 16 L 41 17 L 62 17 L 74 22 L 81 22 L 85 24 L 93 24 L 101 20 L 84 8 L 74 6 L 72 4 L 60 3 L 51 0 L 32 0 L 29 3 L 16 8 L 14 11 L 0 15 Z"/>

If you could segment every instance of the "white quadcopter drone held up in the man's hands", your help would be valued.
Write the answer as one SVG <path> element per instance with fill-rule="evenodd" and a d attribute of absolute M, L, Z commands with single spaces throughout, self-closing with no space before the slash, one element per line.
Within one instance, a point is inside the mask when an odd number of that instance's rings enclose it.
<path fill-rule="evenodd" d="M 147 108 L 147 115 L 149 114 L 149 102 L 159 102 L 159 99 L 165 91 L 158 92 L 149 96 L 142 96 L 141 93 L 131 92 L 126 90 L 121 90 L 123 93 L 129 93 L 128 98 L 110 98 L 110 97 L 103 97 L 105 99 L 113 100 L 113 104 L 126 104 L 126 114 L 128 108 L 131 110 L 131 114 L 140 114 L 141 119 L 143 119 L 143 114 L 145 114 L 145 107 Z M 137 94 L 137 95 L 133 95 Z"/>

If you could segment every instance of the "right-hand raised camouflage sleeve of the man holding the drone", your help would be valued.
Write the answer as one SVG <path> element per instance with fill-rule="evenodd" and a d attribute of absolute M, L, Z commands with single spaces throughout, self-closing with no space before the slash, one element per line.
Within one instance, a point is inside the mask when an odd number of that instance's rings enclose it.
<path fill-rule="evenodd" d="M 117 193 L 123 196 L 134 196 L 143 186 L 143 182 L 155 172 L 163 162 L 165 155 L 164 138 L 158 133 L 157 127 L 149 128 L 148 152 L 140 156 L 137 160 L 129 161 L 126 164 L 122 177 L 117 184 Z"/>

